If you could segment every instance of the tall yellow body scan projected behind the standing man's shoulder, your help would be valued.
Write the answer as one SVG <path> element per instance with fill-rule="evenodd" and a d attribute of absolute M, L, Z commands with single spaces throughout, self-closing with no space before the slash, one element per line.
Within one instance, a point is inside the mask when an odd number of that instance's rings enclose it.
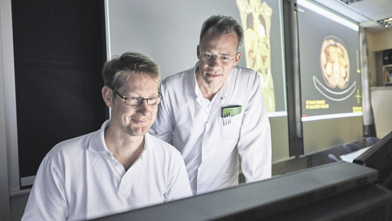
<path fill-rule="evenodd" d="M 261 76 L 267 112 L 275 111 L 275 92 L 271 73 L 270 30 L 272 9 L 261 0 L 237 0 L 244 29 L 246 67 Z"/>

